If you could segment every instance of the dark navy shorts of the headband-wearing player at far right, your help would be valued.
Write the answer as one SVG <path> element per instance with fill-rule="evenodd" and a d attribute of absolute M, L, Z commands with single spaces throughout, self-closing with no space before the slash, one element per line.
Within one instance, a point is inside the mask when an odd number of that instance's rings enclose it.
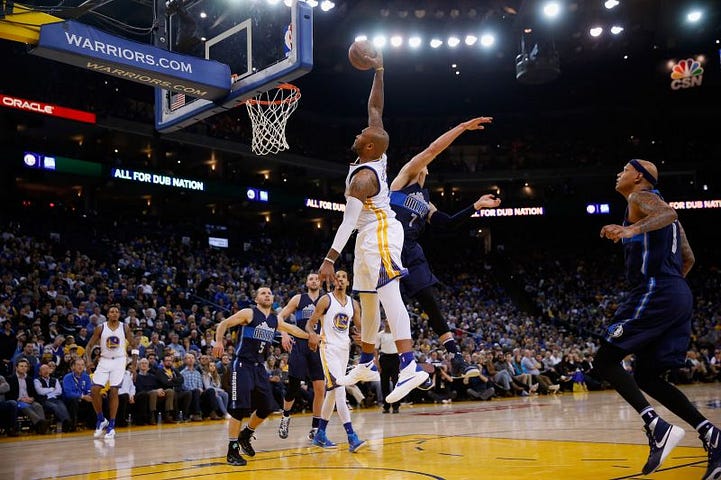
<path fill-rule="evenodd" d="M 605 339 L 636 354 L 639 369 L 681 367 L 691 339 L 693 295 L 681 277 L 649 278 L 619 305 Z"/>

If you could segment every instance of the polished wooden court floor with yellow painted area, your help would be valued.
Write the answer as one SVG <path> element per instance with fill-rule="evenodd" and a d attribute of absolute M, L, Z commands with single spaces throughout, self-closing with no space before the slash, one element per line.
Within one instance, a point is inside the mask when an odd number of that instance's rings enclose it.
<path fill-rule="evenodd" d="M 684 387 L 721 424 L 719 384 Z M 114 441 L 92 432 L 0 440 L 0 479 L 700 479 L 706 452 L 686 430 L 661 469 L 640 474 L 648 454 L 636 413 L 612 391 L 566 393 L 448 405 L 403 405 L 400 413 L 356 409 L 353 424 L 368 444 L 355 454 L 336 416 L 338 448 L 309 445 L 309 415 L 296 415 L 278 438 L 279 416 L 257 431 L 257 455 L 245 467 L 225 462 L 227 425 L 206 421 L 119 429 Z"/>

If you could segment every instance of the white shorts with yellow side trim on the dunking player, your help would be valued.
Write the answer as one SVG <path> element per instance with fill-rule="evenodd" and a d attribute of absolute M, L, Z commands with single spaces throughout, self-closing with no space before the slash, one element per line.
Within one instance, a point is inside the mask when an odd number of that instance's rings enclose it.
<path fill-rule="evenodd" d="M 358 232 L 353 261 L 353 290 L 375 292 L 395 278 L 404 277 L 403 226 L 395 218 L 369 225 Z"/>

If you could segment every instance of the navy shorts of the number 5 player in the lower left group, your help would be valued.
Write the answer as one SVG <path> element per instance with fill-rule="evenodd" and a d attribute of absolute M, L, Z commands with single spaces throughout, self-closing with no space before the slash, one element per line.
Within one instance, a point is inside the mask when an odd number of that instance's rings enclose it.
<path fill-rule="evenodd" d="M 229 409 L 273 409 L 273 390 L 262 363 L 236 360 L 230 370 L 230 390 Z"/>

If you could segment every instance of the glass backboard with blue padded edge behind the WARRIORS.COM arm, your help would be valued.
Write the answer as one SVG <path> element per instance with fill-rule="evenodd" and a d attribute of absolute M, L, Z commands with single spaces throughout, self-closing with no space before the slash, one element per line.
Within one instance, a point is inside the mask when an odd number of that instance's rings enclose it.
<path fill-rule="evenodd" d="M 155 0 L 156 46 L 230 66 L 228 95 L 155 90 L 155 127 L 172 132 L 242 104 L 313 67 L 313 12 L 303 1 Z M 290 3 L 290 6 L 288 6 Z"/>

